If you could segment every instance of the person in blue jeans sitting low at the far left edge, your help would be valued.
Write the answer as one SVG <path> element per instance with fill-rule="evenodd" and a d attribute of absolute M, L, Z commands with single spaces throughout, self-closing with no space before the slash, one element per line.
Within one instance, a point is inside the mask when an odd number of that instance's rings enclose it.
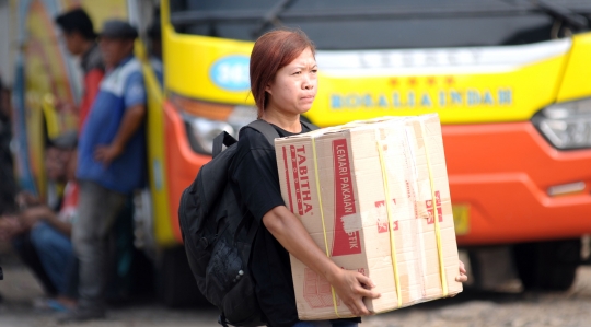
<path fill-rule="evenodd" d="M 25 265 L 48 290 L 50 299 L 37 305 L 57 311 L 76 305 L 77 266 L 70 240 L 78 202 L 76 143 L 74 131 L 65 133 L 50 140 L 46 152 L 48 179 L 66 183 L 59 211 L 31 194 L 21 192 L 16 197 L 21 210 L 0 218 L 0 237 L 13 241 Z"/>

